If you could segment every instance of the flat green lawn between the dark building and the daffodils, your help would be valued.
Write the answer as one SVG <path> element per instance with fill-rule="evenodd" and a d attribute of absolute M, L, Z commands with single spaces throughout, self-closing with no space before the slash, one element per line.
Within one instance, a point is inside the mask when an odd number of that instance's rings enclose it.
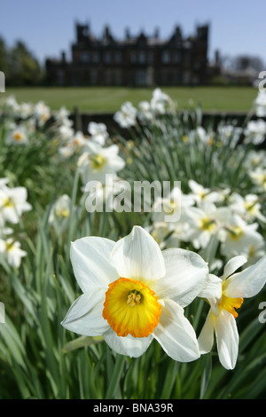
<path fill-rule="evenodd" d="M 254 87 L 161 87 L 183 109 L 200 104 L 206 111 L 246 112 L 253 104 L 258 90 Z M 35 103 L 43 100 L 52 110 L 66 106 L 70 111 L 78 106 L 90 113 L 113 113 L 125 101 L 135 106 L 141 100 L 150 100 L 153 89 L 125 87 L 42 87 L 9 88 L 5 95 L 14 95 L 19 102 Z M 3 96 L 3 95 L 2 95 Z"/>

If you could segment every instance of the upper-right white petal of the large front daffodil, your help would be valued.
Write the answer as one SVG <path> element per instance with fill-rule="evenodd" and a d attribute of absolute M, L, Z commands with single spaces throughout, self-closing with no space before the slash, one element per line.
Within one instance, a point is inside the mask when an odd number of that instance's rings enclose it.
<path fill-rule="evenodd" d="M 171 298 L 182 307 L 192 303 L 207 279 L 207 263 L 200 255 L 185 249 L 162 251 L 166 274 L 153 283 L 159 299 Z"/>

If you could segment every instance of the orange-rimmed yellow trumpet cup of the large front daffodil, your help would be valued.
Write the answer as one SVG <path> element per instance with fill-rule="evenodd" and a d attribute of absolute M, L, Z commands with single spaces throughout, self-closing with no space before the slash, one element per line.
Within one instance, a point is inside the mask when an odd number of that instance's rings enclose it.
<path fill-rule="evenodd" d="M 147 337 L 158 326 L 157 296 L 137 279 L 120 278 L 106 291 L 103 318 L 118 336 Z"/>

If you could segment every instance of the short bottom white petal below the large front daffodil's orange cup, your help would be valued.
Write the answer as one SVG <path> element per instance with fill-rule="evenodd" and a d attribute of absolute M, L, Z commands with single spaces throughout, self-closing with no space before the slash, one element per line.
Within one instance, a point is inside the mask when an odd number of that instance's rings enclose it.
<path fill-rule="evenodd" d="M 152 335 L 149 335 L 148 337 L 133 337 L 129 334 L 126 337 L 120 337 L 113 332 L 112 328 L 109 328 L 103 336 L 112 350 L 120 355 L 129 356 L 130 358 L 138 358 L 143 355 L 151 342 L 153 342 Z"/>

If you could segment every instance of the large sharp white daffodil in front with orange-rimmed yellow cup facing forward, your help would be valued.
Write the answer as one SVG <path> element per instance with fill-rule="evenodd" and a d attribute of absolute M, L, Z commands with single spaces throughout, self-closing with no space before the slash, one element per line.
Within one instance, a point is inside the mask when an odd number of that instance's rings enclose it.
<path fill-rule="evenodd" d="M 161 251 L 140 226 L 114 242 L 99 237 L 75 240 L 74 275 L 82 295 L 62 326 L 83 335 L 103 335 L 111 349 L 139 357 L 156 339 L 169 357 L 199 358 L 194 329 L 184 307 L 200 293 L 207 264 L 191 251 Z"/>

